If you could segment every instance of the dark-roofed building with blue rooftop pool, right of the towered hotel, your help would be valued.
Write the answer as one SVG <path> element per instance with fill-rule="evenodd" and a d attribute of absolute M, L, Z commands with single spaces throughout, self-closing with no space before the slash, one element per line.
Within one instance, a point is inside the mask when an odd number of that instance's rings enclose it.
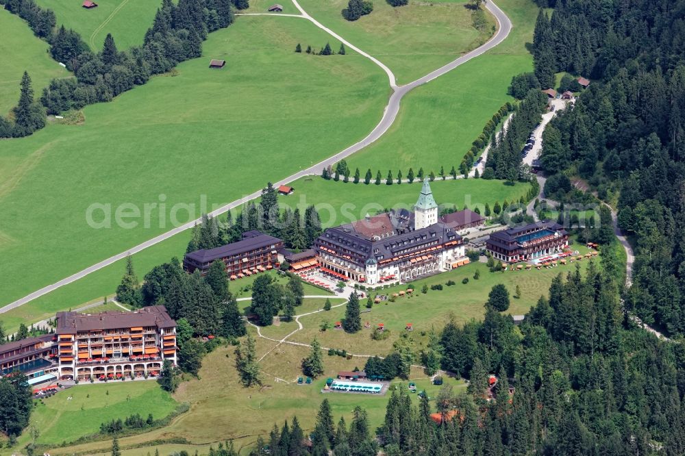
<path fill-rule="evenodd" d="M 488 252 L 495 259 L 507 263 L 525 262 L 561 252 L 568 245 L 569 233 L 562 225 L 550 220 L 498 231 L 486 241 Z"/>

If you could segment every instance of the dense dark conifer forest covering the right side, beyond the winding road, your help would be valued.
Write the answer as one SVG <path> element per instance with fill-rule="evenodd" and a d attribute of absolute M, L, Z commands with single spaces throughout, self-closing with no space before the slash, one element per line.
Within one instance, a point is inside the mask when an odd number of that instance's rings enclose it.
<path fill-rule="evenodd" d="M 547 6 L 541 5 L 541 6 Z M 547 173 L 580 175 L 615 205 L 636 253 L 625 304 L 685 333 L 685 1 L 556 1 L 535 71 L 592 79 L 543 136 Z M 543 84 L 544 85 L 544 84 Z"/>

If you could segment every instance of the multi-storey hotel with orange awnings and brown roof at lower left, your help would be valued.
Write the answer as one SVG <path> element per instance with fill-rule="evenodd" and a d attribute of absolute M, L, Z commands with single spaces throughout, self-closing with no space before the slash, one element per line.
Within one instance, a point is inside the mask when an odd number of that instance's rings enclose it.
<path fill-rule="evenodd" d="M 134 312 L 58 312 L 59 379 L 157 376 L 177 364 L 176 322 L 162 305 Z"/>

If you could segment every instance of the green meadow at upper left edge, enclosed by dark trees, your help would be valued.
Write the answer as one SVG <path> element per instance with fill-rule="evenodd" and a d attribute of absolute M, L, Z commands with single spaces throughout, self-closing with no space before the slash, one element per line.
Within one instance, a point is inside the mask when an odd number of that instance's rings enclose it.
<path fill-rule="evenodd" d="M 42 88 L 51 79 L 67 77 L 70 73 L 52 60 L 47 52 L 47 42 L 35 36 L 23 19 L 3 8 L 0 8 L 0 30 L 3 31 L 0 41 L 0 55 L 3 56 L 3 64 L 0 65 L 0 115 L 5 116 L 19 100 L 19 83 L 24 71 L 28 71 L 32 79 L 36 98 L 40 97 Z M 5 157 L 0 154 L 0 189 L 10 176 L 5 172 L 16 165 L 10 159 L 5 162 Z"/>

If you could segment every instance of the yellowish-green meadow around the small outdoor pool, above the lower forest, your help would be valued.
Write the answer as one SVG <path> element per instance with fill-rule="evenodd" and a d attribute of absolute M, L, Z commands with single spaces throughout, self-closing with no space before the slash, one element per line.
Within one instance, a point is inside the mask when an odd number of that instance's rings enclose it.
<path fill-rule="evenodd" d="M 273 345 L 273 342 L 258 340 L 258 355 L 261 356 Z M 268 435 L 274 423 L 282 426 L 283 420 L 291 420 L 295 415 L 300 420 L 303 429 L 309 433 L 312 431 L 316 411 L 323 398 L 328 398 L 330 401 L 336 422 L 341 415 L 344 415 L 349 425 L 351 411 L 360 405 L 369 413 L 371 429 L 382 424 L 389 394 L 374 396 L 321 393 L 326 377 L 334 377 L 338 370 L 351 370 L 358 364 L 363 365 L 363 359 L 347 361 L 340 357 L 325 355 L 325 374 L 322 377 L 316 379 L 312 385 L 292 383 L 298 376 L 301 376 L 299 364 L 307 353 L 308 350 L 303 347 L 279 346 L 261 362 L 262 369 L 268 372 L 264 374 L 264 386 L 245 389 L 238 383 L 234 368 L 234 347 L 219 348 L 203 361 L 200 379 L 182 383 L 175 394 L 177 401 L 192 403 L 190 411 L 175 419 L 169 427 L 121 438 L 119 444 L 126 448 L 131 445 L 142 446 L 145 442 L 158 438 L 186 438 L 192 444 L 206 445 L 233 438 L 236 449 L 247 448 L 257 440 L 258 435 Z M 290 383 L 275 381 L 274 375 Z M 426 389 L 429 396 L 436 396 L 438 387 L 430 385 L 429 379 L 421 370 L 412 370 L 412 381 L 414 380 L 419 390 Z M 447 379 L 445 383 L 451 383 L 457 390 L 464 388 L 464 383 L 456 379 Z M 404 387 L 406 388 L 406 383 Z M 419 399 L 412 395 L 412 401 L 418 403 Z M 81 451 L 89 454 L 110 453 L 110 447 L 110 442 L 95 442 L 65 448 L 50 448 L 49 453 L 51 455 L 71 455 Z M 145 455 L 147 451 L 153 454 L 154 446 L 143 446 L 123 454 Z M 160 454 L 166 453 L 162 453 L 160 448 Z M 244 450 L 244 453 L 240 454 L 247 454 L 247 451 Z"/>

